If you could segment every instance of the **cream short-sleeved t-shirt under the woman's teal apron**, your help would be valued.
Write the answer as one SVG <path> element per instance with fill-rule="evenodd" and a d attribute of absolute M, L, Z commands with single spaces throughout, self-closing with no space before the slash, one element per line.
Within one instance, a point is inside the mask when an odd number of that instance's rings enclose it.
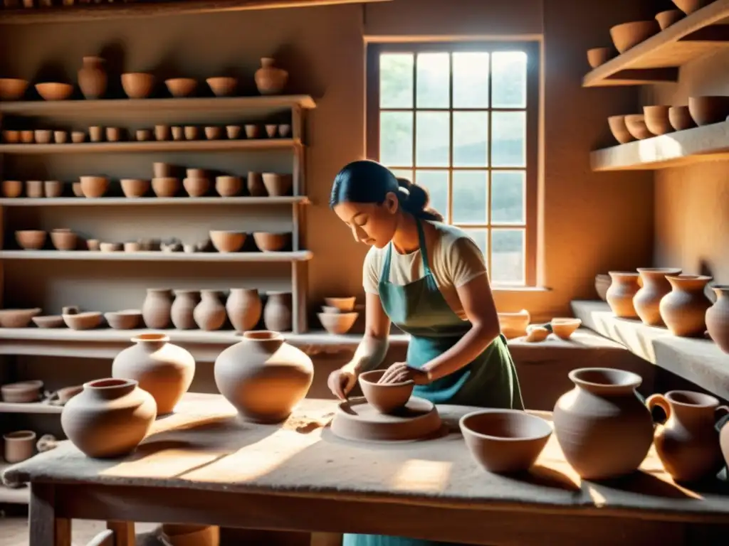
<path fill-rule="evenodd" d="M 483 253 L 462 229 L 440 222 L 423 221 L 423 224 L 429 265 L 440 293 L 453 312 L 461 320 L 467 320 L 457 289 L 475 277 L 486 274 Z M 429 230 L 427 226 L 434 229 Z M 365 256 L 362 269 L 365 292 L 379 293 L 378 283 L 390 246 L 391 243 L 385 248 L 372 247 Z M 419 248 L 408 254 L 399 254 L 392 248 L 389 282 L 406 285 L 423 278 L 423 275 L 423 258 Z"/>

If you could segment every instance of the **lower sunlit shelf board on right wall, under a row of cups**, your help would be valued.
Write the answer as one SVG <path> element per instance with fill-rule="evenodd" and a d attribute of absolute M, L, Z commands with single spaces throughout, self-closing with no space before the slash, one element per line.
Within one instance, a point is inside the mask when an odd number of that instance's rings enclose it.
<path fill-rule="evenodd" d="M 729 157 L 729 122 L 669 132 L 590 153 L 592 170 L 652 170 Z"/>

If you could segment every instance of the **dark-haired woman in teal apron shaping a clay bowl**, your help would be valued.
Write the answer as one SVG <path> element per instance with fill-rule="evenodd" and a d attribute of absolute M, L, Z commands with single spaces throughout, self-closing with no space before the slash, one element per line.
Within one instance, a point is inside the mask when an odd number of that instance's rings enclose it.
<path fill-rule="evenodd" d="M 523 409 L 483 254 L 427 205 L 424 189 L 377 162 L 352 162 L 335 178 L 332 210 L 354 240 L 372 248 L 362 273 L 364 339 L 351 362 L 330 374 L 329 387 L 345 399 L 359 373 L 377 368 L 394 323 L 411 336 L 407 362 L 391 365 L 382 381 L 412 380 L 413 395 L 437 404 Z M 343 546 L 434 544 L 347 534 Z"/>

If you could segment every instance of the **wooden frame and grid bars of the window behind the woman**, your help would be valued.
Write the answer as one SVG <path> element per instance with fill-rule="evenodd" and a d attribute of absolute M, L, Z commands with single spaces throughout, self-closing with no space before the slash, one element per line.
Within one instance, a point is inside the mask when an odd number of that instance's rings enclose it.
<path fill-rule="evenodd" d="M 526 113 L 526 166 L 504 167 L 503 169 L 491 166 L 491 146 L 489 146 L 489 165 L 486 170 L 489 172 L 488 208 L 491 209 L 491 173 L 494 170 L 525 170 L 526 182 L 524 189 L 525 199 L 525 222 L 524 226 L 518 229 L 524 230 L 524 283 L 495 284 L 496 289 L 518 290 L 520 288 L 534 288 L 537 286 L 537 238 L 538 238 L 538 199 L 539 199 L 539 78 L 540 78 L 540 44 L 539 41 L 506 41 L 506 40 L 483 40 L 483 41 L 429 41 L 429 42 L 370 42 L 367 44 L 367 74 L 366 74 L 366 116 L 365 116 L 365 138 L 366 154 L 368 159 L 379 161 L 380 157 L 380 55 L 382 53 L 418 53 L 424 52 L 499 52 L 520 50 L 526 52 L 526 106 L 525 108 L 453 108 L 453 63 L 450 63 L 450 104 L 448 108 L 417 108 L 415 100 L 411 108 L 393 108 L 402 111 L 444 111 L 451 114 L 451 131 L 449 138 L 451 159 L 448 167 L 438 167 L 437 170 L 447 170 L 448 184 L 448 219 L 453 218 L 453 171 L 459 167 L 453 167 L 453 111 L 484 111 L 489 112 L 488 142 L 491 143 L 491 112 L 494 111 L 524 111 Z M 492 79 L 488 80 L 489 100 L 492 98 Z M 417 63 L 413 63 L 413 99 L 416 94 L 417 84 Z M 389 108 L 386 108 L 388 110 Z M 413 130 L 413 153 L 416 143 L 416 131 Z M 430 167 L 421 167 L 422 170 L 429 170 Z M 412 167 L 413 173 L 418 170 L 416 165 Z M 432 170 L 432 169 L 431 169 Z M 489 276 L 491 275 L 491 234 L 493 229 L 508 229 L 509 224 L 491 223 L 489 213 L 488 224 L 474 225 L 475 229 L 488 229 L 488 256 L 486 264 Z"/>

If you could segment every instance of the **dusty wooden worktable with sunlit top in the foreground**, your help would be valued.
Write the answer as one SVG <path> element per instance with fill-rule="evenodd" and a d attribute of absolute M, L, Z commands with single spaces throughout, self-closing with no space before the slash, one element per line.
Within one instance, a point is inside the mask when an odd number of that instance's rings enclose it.
<path fill-rule="evenodd" d="M 727 483 L 677 486 L 651 452 L 642 472 L 581 481 L 554 435 L 529 475 L 480 470 L 458 431 L 470 408 L 440 406 L 451 432 L 399 445 L 335 438 L 335 404 L 305 400 L 283 426 L 240 422 L 217 395 L 187 395 L 125 459 L 69 442 L 10 467 L 30 483 L 31 546 L 69 545 L 71 518 L 356 532 L 487 545 L 726 545 Z M 548 416 L 548 414 L 547 414 Z M 620 441 L 616 438 L 616 441 Z"/>

